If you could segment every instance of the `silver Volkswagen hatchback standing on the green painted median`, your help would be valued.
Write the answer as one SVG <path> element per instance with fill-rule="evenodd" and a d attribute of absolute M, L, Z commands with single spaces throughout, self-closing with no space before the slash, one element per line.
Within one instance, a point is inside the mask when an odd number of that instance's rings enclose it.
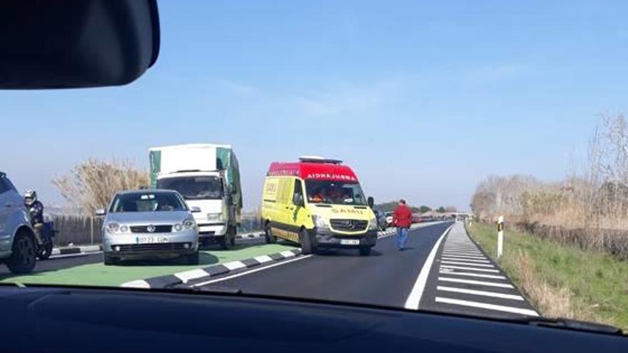
<path fill-rule="evenodd" d="M 120 260 L 183 257 L 198 264 L 198 230 L 181 195 L 173 190 L 131 190 L 116 194 L 103 222 L 105 265 Z"/>

